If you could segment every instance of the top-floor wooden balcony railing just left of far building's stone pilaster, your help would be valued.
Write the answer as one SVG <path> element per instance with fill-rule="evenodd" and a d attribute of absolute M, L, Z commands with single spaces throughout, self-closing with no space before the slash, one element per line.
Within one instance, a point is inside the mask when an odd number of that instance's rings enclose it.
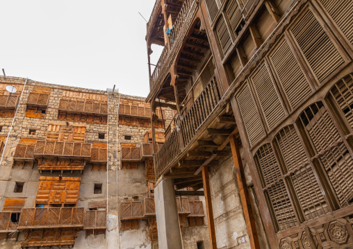
<path fill-rule="evenodd" d="M 92 102 L 86 102 L 86 101 L 69 101 L 66 99 L 61 99 L 58 110 L 63 112 L 107 115 L 108 105 L 103 103 L 92 103 Z"/>

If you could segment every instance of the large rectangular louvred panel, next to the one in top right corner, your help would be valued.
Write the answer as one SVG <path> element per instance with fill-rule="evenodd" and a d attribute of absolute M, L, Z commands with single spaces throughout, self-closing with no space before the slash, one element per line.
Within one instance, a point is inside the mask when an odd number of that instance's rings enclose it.
<path fill-rule="evenodd" d="M 345 63 L 310 10 L 292 28 L 292 33 L 320 83 Z"/>

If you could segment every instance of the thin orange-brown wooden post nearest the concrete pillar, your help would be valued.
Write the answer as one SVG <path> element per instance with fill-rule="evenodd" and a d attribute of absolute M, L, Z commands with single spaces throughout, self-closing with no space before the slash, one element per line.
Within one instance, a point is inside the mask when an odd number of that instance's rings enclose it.
<path fill-rule="evenodd" d="M 202 166 L 202 179 L 204 180 L 204 194 L 206 200 L 206 214 L 208 222 L 208 232 L 210 235 L 211 249 L 217 249 L 215 240 L 215 221 L 213 219 L 213 208 L 211 200 L 210 179 L 208 178 L 208 166 Z"/>

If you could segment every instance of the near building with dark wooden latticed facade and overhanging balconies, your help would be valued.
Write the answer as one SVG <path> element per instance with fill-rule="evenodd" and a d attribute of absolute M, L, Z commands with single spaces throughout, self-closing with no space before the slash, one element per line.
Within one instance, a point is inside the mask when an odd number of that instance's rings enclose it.
<path fill-rule="evenodd" d="M 156 1 L 161 248 L 182 248 L 181 187 L 204 189 L 211 248 L 353 248 L 352 19 L 349 0 Z"/>

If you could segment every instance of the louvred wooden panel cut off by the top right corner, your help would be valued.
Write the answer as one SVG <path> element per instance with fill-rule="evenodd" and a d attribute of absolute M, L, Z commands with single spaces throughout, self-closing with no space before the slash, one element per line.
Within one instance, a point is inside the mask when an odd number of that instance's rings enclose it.
<path fill-rule="evenodd" d="M 351 0 L 319 0 L 329 12 L 332 19 L 336 22 L 340 30 L 347 37 L 351 44 L 353 44 L 353 1 Z"/>

